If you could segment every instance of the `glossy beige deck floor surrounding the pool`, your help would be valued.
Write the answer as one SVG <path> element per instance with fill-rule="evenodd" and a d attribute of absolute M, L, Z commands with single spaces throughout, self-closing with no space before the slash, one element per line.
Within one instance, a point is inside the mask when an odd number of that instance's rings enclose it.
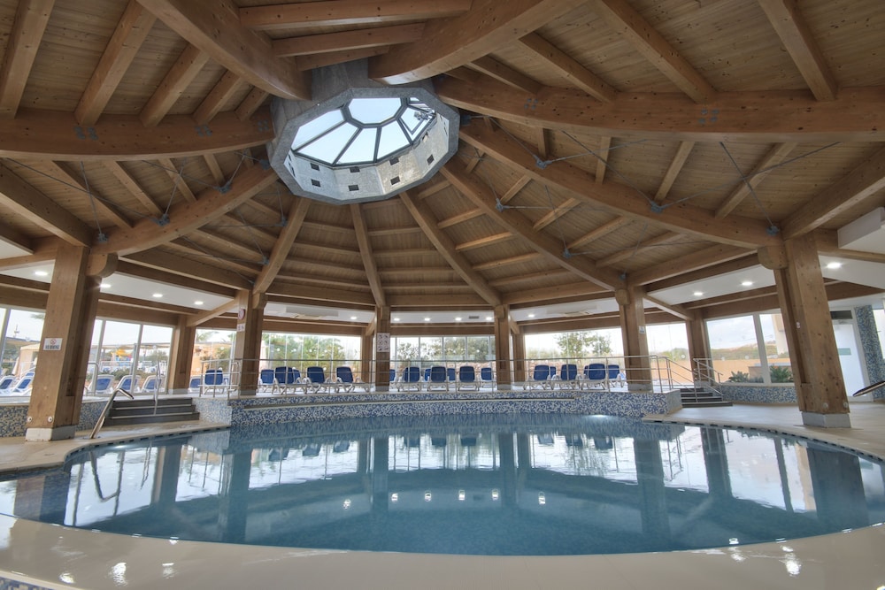
<path fill-rule="evenodd" d="M 854 402 L 851 428 L 801 424 L 796 406 L 682 409 L 646 419 L 752 427 L 885 457 L 885 404 Z M 108 428 L 102 443 L 212 427 L 205 423 Z M 0 439 L 0 470 L 57 464 L 88 445 Z M 449 556 L 263 548 L 135 538 L 0 517 L 0 579 L 45 588 L 170 587 L 473 588 L 606 590 L 748 587 L 814 590 L 885 586 L 885 526 L 781 543 L 610 556 Z M 47 558 L 50 556 L 50 558 Z"/>

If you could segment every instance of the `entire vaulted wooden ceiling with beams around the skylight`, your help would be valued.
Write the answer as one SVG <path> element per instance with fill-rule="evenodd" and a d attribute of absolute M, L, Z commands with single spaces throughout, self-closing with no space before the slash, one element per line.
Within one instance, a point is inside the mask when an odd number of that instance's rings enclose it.
<path fill-rule="evenodd" d="M 0 33 L 0 272 L 73 244 L 231 300 L 488 310 L 809 232 L 885 260 L 835 239 L 885 204 L 881 0 L 0 0 Z M 269 104 L 352 59 L 433 80 L 458 154 L 387 201 L 292 195 Z"/>

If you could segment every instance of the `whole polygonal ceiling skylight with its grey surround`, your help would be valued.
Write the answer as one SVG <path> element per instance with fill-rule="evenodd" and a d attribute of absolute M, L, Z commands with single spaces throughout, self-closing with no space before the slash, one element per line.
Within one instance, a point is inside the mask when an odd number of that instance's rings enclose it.
<path fill-rule="evenodd" d="M 272 107 L 271 165 L 296 195 L 327 203 L 381 200 L 426 180 L 454 154 L 458 114 L 429 84 L 354 84 L 352 71 L 325 73 L 315 75 L 313 89 L 327 99 L 277 99 Z"/>

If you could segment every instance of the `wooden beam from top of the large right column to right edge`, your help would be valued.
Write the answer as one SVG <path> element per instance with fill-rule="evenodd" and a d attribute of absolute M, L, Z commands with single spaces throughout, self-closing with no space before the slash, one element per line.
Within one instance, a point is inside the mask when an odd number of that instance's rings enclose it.
<path fill-rule="evenodd" d="M 843 211 L 876 198 L 885 188 L 885 148 L 814 195 L 781 225 L 784 239 L 806 234 Z"/>

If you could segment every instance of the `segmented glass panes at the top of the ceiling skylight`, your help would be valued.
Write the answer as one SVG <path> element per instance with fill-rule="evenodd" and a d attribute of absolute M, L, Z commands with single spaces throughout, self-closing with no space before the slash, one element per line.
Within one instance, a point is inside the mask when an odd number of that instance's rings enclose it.
<path fill-rule="evenodd" d="M 353 98 L 301 126 L 296 157 L 331 165 L 376 164 L 419 141 L 436 113 L 417 98 Z"/>

